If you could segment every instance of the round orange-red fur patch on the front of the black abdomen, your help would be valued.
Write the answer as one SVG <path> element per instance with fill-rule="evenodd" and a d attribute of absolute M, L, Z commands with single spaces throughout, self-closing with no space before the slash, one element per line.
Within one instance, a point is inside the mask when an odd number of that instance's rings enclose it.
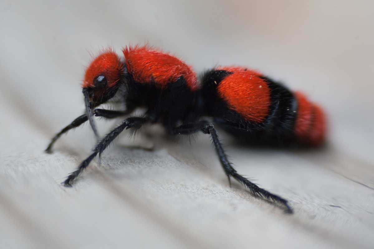
<path fill-rule="evenodd" d="M 218 93 L 230 108 L 248 121 L 264 121 L 269 115 L 270 89 L 260 78 L 261 74 L 241 67 L 221 67 L 218 70 L 233 72 L 218 85 Z"/>

